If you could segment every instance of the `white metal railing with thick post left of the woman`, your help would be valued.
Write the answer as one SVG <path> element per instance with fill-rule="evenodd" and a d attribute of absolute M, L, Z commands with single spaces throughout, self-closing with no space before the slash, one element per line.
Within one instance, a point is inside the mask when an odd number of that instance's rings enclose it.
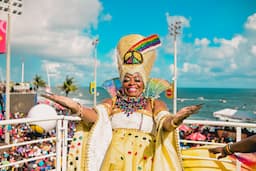
<path fill-rule="evenodd" d="M 38 159 L 44 159 L 44 158 L 50 158 L 55 157 L 56 158 L 56 171 L 66 171 L 66 161 L 67 161 L 67 149 L 68 149 L 68 122 L 69 121 L 78 121 L 80 120 L 79 117 L 73 117 L 73 116 L 54 116 L 51 118 L 22 118 L 22 119 L 10 119 L 10 120 L 2 120 L 0 121 L 0 126 L 4 125 L 14 125 L 14 124 L 22 124 L 22 123 L 32 123 L 33 122 L 43 122 L 43 121 L 52 121 L 56 120 L 56 136 L 51 138 L 42 138 L 39 140 L 31 140 L 31 141 L 25 141 L 20 143 L 12 143 L 7 145 L 0 146 L 1 149 L 9 149 L 12 147 L 17 147 L 21 145 L 31 145 L 35 143 L 42 143 L 45 141 L 55 141 L 56 143 L 56 152 L 51 152 L 50 154 L 46 155 L 40 155 L 36 157 L 31 157 L 27 159 L 22 159 L 16 162 L 8 163 L 8 164 L 2 164 L 0 165 L 0 170 L 2 168 L 6 167 L 12 167 L 19 164 L 23 164 L 26 162 L 36 161 Z"/>

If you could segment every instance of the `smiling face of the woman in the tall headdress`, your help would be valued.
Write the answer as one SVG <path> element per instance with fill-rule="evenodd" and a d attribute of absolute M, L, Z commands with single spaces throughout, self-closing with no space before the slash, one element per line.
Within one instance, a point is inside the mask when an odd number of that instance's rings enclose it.
<path fill-rule="evenodd" d="M 124 93 L 130 97 L 138 97 L 144 90 L 144 83 L 139 73 L 126 74 L 123 80 Z"/>

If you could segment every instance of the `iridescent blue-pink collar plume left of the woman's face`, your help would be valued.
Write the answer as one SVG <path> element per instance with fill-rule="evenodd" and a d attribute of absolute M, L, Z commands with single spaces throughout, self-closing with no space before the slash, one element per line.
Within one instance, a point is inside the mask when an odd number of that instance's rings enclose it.
<path fill-rule="evenodd" d="M 116 92 L 121 88 L 121 81 L 119 78 L 113 78 L 103 82 L 102 87 L 109 93 L 111 97 L 116 95 Z"/>

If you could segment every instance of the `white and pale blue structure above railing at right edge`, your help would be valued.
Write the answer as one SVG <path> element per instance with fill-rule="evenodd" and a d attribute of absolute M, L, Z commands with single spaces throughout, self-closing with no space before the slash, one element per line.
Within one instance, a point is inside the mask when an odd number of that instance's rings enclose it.
<path fill-rule="evenodd" d="M 213 112 L 213 116 L 223 121 L 231 122 L 256 122 L 256 114 L 251 111 L 242 111 L 237 109 L 222 109 Z"/>

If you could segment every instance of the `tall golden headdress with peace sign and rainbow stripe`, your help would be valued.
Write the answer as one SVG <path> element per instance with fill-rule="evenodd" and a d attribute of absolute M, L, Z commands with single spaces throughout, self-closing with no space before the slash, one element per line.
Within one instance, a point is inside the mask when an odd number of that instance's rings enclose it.
<path fill-rule="evenodd" d="M 160 39 L 156 34 L 146 38 L 139 34 L 122 37 L 117 46 L 120 80 L 123 82 L 126 73 L 138 72 L 146 86 L 156 58 L 154 49 L 160 44 Z"/>

